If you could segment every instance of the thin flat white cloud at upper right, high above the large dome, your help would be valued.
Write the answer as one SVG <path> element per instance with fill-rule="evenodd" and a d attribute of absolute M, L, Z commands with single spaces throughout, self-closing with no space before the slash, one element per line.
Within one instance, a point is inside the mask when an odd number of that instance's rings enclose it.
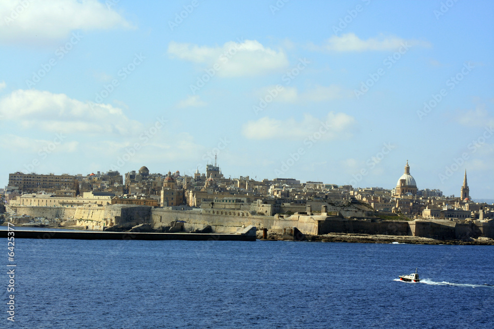
<path fill-rule="evenodd" d="M 327 39 L 323 45 L 310 45 L 312 50 L 330 51 L 330 52 L 350 52 L 350 51 L 396 51 L 400 47 L 430 47 L 430 43 L 419 40 L 407 40 L 399 37 L 371 37 L 362 40 L 353 33 L 343 34 L 340 37 L 332 36 Z"/>

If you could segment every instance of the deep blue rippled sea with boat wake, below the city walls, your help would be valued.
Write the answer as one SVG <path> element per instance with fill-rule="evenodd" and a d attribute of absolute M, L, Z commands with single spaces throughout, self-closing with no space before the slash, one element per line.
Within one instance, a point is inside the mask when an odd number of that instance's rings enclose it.
<path fill-rule="evenodd" d="M 1 240 L 0 328 L 494 328 L 493 246 Z"/>

